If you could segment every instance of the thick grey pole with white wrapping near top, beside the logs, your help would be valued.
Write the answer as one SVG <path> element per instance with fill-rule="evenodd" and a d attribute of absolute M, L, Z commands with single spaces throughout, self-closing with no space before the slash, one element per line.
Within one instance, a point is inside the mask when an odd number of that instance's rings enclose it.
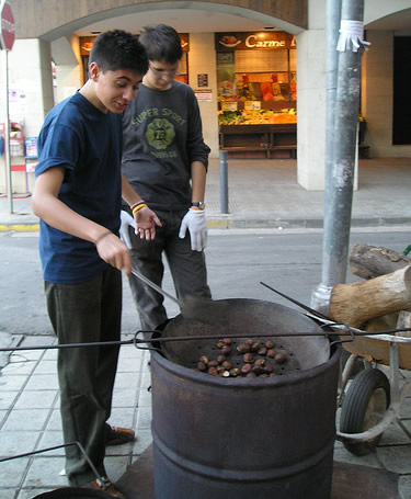
<path fill-rule="evenodd" d="M 329 0 L 329 4 L 331 4 Z M 336 7 L 333 5 L 336 10 Z M 330 8 L 331 10 L 331 8 Z M 334 23 L 330 12 L 328 22 Z M 331 18 L 332 15 L 332 18 Z M 364 0 L 342 0 L 341 20 L 363 22 Z M 331 27 L 330 30 L 335 27 Z M 335 37 L 331 36 L 334 44 Z M 333 45 L 335 47 L 335 45 Z M 330 47 L 329 47 L 330 48 Z M 335 48 L 333 48 L 335 50 Z M 361 89 L 361 57 L 357 52 L 345 49 L 338 53 L 336 91 L 332 101 L 332 90 L 327 101 L 327 146 L 326 151 L 326 201 L 322 252 L 322 281 L 313 291 L 311 307 L 327 315 L 332 287 L 344 283 L 350 245 L 351 212 L 356 157 L 356 137 Z M 334 59 L 330 55 L 330 70 Z M 329 76 L 329 75 L 328 75 Z M 332 76 L 330 75 L 330 84 Z M 331 106 L 331 109 L 330 109 Z M 333 123 L 331 114 L 334 115 Z M 331 127 L 331 128 L 330 128 Z M 329 136 L 331 135 L 331 137 Z"/>

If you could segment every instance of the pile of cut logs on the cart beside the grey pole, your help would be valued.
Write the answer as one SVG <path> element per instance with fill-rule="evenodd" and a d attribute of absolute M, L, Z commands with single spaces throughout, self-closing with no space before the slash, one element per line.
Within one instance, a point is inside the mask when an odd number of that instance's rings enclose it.
<path fill-rule="evenodd" d="M 359 242 L 349 268 L 364 281 L 332 288 L 328 315 L 333 320 L 366 331 L 411 327 L 411 259 Z M 407 331 L 398 334 L 411 337 Z"/>

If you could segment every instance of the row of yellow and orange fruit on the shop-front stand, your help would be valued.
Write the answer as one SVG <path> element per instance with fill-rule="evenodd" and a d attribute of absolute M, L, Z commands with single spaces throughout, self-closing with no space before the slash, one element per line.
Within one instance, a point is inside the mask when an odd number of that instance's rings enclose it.
<path fill-rule="evenodd" d="M 297 123 L 297 114 L 295 109 L 220 111 L 218 123 L 220 125 L 277 125 Z"/>

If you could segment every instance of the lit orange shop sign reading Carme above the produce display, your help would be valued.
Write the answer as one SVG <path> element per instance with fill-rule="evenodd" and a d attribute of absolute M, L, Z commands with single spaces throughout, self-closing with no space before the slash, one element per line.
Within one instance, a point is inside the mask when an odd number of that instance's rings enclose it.
<path fill-rule="evenodd" d="M 296 48 L 296 37 L 283 31 L 216 33 L 215 43 L 217 52 Z"/>

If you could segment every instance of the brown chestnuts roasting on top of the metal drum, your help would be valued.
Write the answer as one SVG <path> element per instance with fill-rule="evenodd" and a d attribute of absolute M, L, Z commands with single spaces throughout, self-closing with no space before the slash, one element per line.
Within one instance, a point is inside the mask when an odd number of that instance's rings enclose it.
<path fill-rule="evenodd" d="M 220 351 L 217 359 L 210 360 L 202 355 L 195 371 L 221 377 L 274 377 L 277 376 L 275 365 L 284 364 L 287 361 L 284 352 L 274 350 L 272 340 L 260 342 L 248 339 L 238 343 L 235 349 L 231 338 L 224 338 L 217 342 L 216 347 Z M 239 361 L 239 356 L 242 362 Z M 235 367 L 233 364 L 239 367 Z"/>

